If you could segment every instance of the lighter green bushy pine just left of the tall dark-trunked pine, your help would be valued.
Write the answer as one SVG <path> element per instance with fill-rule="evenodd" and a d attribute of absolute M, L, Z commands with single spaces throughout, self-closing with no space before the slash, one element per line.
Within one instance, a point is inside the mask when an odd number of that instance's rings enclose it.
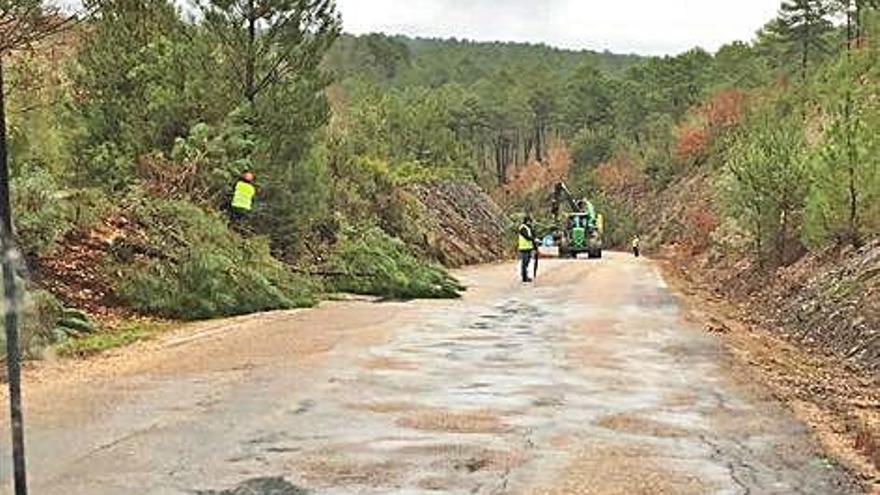
<path fill-rule="evenodd" d="M 88 127 L 77 154 L 91 181 L 118 190 L 131 180 L 134 158 L 169 151 L 205 112 L 197 107 L 200 98 L 187 95 L 195 87 L 197 43 L 185 36 L 173 1 L 99 4 L 76 56 L 74 80 L 82 97 L 75 106 Z M 211 101 L 212 108 L 223 107 Z"/>

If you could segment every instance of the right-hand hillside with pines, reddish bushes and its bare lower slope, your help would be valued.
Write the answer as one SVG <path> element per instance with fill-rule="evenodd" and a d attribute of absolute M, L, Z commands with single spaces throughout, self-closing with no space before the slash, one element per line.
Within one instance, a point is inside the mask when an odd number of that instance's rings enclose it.
<path fill-rule="evenodd" d="M 760 325 L 880 369 L 880 72 L 869 2 L 782 4 L 662 133 L 575 164 L 630 234 Z M 649 115 L 651 112 L 649 112 Z M 649 117 L 649 120 L 651 118 Z M 595 131 L 602 127 L 597 126 Z M 772 301 L 772 304 L 768 304 Z"/>

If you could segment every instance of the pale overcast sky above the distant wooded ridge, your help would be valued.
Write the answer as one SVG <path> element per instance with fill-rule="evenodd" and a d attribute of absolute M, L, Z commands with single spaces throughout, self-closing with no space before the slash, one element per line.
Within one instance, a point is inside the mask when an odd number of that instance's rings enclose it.
<path fill-rule="evenodd" d="M 779 0 L 337 0 L 345 30 L 646 55 L 751 40 Z"/>

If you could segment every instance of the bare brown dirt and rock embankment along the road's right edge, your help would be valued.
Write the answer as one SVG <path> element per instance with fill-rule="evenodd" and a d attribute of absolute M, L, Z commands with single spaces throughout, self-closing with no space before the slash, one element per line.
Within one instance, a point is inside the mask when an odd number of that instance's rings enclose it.
<path fill-rule="evenodd" d="M 639 206 L 643 244 L 665 261 L 744 376 L 810 425 L 826 450 L 880 487 L 880 239 L 770 270 L 720 221 L 711 177 L 680 179 Z"/>

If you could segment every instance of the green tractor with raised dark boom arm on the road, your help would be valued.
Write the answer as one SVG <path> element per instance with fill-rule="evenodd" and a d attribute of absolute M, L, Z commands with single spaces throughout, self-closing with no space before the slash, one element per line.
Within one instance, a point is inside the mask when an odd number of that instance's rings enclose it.
<path fill-rule="evenodd" d="M 587 253 L 590 259 L 602 257 L 604 218 L 597 213 L 595 207 L 586 199 L 577 201 L 565 184 L 559 183 L 553 195 L 553 217 L 557 231 L 554 234 L 556 245 L 559 246 L 560 258 L 577 258 Z M 560 222 L 559 210 L 566 203 L 572 212 L 564 222 Z"/>

